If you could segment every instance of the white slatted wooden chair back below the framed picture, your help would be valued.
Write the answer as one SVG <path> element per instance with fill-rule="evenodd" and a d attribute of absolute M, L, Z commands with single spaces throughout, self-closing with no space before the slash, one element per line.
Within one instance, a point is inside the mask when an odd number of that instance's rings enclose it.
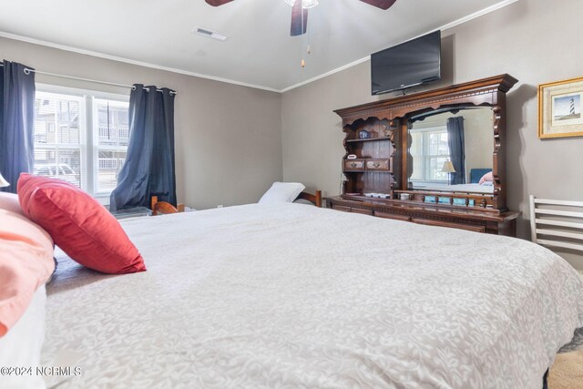
<path fill-rule="evenodd" d="M 533 242 L 583 251 L 583 201 L 542 200 L 531 195 L 529 202 Z"/>

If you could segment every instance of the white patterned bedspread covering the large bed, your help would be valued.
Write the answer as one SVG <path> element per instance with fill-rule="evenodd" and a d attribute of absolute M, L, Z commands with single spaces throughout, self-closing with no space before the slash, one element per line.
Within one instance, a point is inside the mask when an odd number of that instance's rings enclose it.
<path fill-rule="evenodd" d="M 298 204 L 125 220 L 148 266 L 62 261 L 63 387 L 540 388 L 583 282 L 528 241 Z"/>

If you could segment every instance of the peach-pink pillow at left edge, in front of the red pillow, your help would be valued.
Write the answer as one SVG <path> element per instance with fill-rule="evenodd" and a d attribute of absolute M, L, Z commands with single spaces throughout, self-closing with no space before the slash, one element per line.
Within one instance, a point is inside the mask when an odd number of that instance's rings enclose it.
<path fill-rule="evenodd" d="M 54 270 L 53 241 L 46 230 L 23 215 L 0 210 L 0 337 Z"/>

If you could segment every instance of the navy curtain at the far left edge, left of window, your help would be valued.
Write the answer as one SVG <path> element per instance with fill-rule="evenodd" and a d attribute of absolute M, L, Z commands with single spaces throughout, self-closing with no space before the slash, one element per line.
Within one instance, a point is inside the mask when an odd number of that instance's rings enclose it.
<path fill-rule="evenodd" d="M 20 173 L 32 170 L 35 162 L 35 72 L 15 62 L 0 67 L 0 173 L 16 193 Z"/>

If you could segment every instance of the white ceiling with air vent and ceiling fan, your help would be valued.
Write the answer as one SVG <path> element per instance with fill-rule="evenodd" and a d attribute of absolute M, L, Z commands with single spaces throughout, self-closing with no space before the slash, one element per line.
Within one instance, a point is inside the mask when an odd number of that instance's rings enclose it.
<path fill-rule="evenodd" d="M 294 37 L 292 7 L 283 0 L 220 7 L 204 0 L 2 1 L 0 36 L 283 91 L 515 1 L 397 0 L 383 11 L 358 0 L 320 0 L 310 10 L 308 34 Z M 195 35 L 195 26 L 229 38 Z M 308 42 L 312 54 L 305 55 Z"/>

